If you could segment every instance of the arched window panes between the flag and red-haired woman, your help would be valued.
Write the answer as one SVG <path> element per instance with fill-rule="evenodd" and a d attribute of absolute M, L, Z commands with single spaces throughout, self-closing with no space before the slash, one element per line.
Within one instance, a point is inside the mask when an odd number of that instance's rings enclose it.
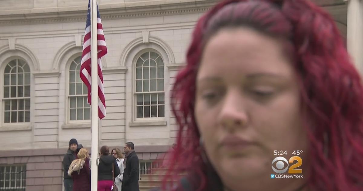
<path fill-rule="evenodd" d="M 156 52 L 145 52 L 135 64 L 136 120 L 164 118 L 164 62 Z"/>

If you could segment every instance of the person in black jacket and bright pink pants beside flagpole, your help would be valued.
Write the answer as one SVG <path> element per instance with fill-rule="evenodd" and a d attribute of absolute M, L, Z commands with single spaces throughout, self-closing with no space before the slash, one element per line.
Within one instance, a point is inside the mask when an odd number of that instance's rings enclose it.
<path fill-rule="evenodd" d="M 109 147 L 102 146 L 101 147 L 101 156 L 99 157 L 99 165 L 98 165 L 98 191 L 110 191 L 113 185 L 112 178 L 112 166 L 114 170 L 114 177 L 120 174 L 120 169 L 118 168 L 116 158 L 112 155 L 109 155 Z"/>

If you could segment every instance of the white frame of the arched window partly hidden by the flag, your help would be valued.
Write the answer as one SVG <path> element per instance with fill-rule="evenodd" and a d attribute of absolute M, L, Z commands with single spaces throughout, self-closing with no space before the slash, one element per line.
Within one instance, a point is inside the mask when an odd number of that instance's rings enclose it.
<path fill-rule="evenodd" d="M 78 58 L 79 56 L 82 56 L 81 54 L 76 54 L 73 55 L 72 57 L 70 57 L 67 65 L 66 65 L 66 69 L 65 69 L 65 78 L 66 78 L 66 84 L 65 84 L 65 92 L 66 92 L 66 108 L 65 108 L 65 112 L 66 112 L 66 123 L 67 124 L 89 124 L 91 122 L 91 120 L 70 120 L 70 97 L 78 97 L 81 95 L 69 95 L 69 72 L 70 72 L 70 66 L 72 65 L 73 61 Z M 76 75 L 77 76 L 77 75 Z M 83 81 L 81 82 L 82 85 L 84 85 Z M 87 94 L 83 94 L 83 96 L 87 96 Z M 76 106 L 77 107 L 77 106 Z M 91 110 L 91 107 L 90 107 Z M 76 111 L 77 114 L 77 111 Z M 91 118 L 91 114 L 90 114 L 90 118 Z"/>

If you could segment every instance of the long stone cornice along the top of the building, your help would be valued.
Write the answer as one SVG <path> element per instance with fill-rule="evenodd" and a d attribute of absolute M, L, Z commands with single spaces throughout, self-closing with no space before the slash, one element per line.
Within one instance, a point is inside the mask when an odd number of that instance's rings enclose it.
<path fill-rule="evenodd" d="M 99 6 L 102 20 L 127 19 L 138 17 L 153 17 L 166 15 L 180 15 L 189 13 L 203 13 L 212 7 L 216 0 L 192 1 L 186 3 L 172 3 L 160 5 L 145 5 L 142 7 L 117 7 Z M 19 13 L 0 15 L 0 25 L 23 25 L 23 24 L 48 24 L 83 22 L 86 16 L 84 9 L 76 11 L 65 11 L 57 8 L 53 12 L 46 13 Z"/>

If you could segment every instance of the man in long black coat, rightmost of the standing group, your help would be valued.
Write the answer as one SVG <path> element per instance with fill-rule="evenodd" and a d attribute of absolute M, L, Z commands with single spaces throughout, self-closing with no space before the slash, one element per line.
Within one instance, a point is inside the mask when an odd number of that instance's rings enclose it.
<path fill-rule="evenodd" d="M 140 191 L 139 190 L 139 158 L 134 151 L 134 143 L 127 142 L 124 147 L 125 160 L 123 166 L 122 190 L 123 191 Z"/>

